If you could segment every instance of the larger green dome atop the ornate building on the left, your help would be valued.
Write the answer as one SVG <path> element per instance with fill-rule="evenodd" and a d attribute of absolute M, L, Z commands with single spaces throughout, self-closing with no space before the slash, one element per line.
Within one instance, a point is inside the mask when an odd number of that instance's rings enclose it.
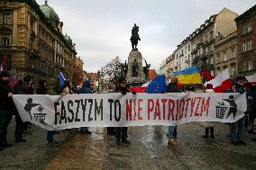
<path fill-rule="evenodd" d="M 55 27 L 58 28 L 59 24 L 59 16 L 52 7 L 50 7 L 47 4 L 47 1 L 45 4 L 40 5 L 41 12 L 44 13 L 45 17 L 50 21 L 50 23 Z"/>

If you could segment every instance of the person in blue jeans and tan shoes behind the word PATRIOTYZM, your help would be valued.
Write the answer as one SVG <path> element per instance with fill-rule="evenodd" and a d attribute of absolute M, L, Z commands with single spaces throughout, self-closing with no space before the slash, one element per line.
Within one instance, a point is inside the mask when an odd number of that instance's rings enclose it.
<path fill-rule="evenodd" d="M 178 84 L 178 78 L 173 77 L 169 85 L 167 85 L 167 93 L 182 93 Z M 177 145 L 177 126 L 169 126 L 168 128 L 168 144 Z"/>

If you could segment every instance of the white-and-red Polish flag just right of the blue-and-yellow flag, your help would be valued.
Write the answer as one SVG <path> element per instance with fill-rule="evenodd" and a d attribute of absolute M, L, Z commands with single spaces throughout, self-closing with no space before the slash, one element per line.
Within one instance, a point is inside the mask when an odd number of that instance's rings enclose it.
<path fill-rule="evenodd" d="M 212 84 L 215 93 L 223 93 L 225 90 L 232 88 L 232 82 L 228 69 L 225 69 L 219 76 L 206 82 L 204 85 Z"/>

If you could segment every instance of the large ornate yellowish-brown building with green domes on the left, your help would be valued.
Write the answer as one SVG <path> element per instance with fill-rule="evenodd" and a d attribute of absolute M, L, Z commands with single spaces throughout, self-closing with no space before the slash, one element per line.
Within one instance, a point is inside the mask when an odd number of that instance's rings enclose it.
<path fill-rule="evenodd" d="M 75 44 L 62 34 L 63 22 L 47 4 L 34 0 L 0 2 L 0 60 L 8 59 L 8 70 L 16 78 L 57 78 L 59 71 L 73 81 Z"/>

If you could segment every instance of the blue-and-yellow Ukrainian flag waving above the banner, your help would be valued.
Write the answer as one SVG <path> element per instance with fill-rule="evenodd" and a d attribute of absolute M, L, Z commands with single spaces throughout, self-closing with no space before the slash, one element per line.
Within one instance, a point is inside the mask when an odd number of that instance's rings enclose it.
<path fill-rule="evenodd" d="M 173 76 L 178 78 L 179 84 L 202 84 L 202 77 L 197 66 L 174 72 Z"/>

